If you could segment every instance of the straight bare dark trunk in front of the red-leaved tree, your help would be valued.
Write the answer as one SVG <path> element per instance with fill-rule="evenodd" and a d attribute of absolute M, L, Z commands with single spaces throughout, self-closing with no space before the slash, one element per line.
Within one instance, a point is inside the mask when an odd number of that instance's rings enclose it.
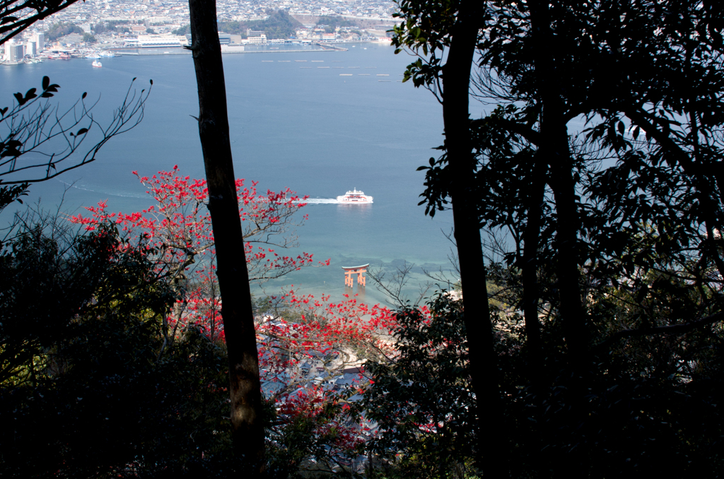
<path fill-rule="evenodd" d="M 198 83 L 198 133 L 209 187 L 222 318 L 229 355 L 231 424 L 235 452 L 248 467 L 264 465 L 261 384 L 244 239 L 229 140 L 224 67 L 216 2 L 189 0 L 193 64 Z"/>

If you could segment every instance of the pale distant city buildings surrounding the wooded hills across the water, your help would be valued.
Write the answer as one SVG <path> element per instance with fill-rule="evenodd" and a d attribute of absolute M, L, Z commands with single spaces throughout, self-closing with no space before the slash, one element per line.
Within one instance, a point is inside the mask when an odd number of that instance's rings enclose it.
<path fill-rule="evenodd" d="M 243 45 L 285 41 L 331 43 L 384 39 L 395 20 L 392 18 L 395 8 L 391 0 L 218 0 L 216 3 L 219 22 L 264 20 L 269 10 L 284 9 L 303 24 L 288 39 L 267 38 L 264 31 L 251 29 L 247 30 L 246 38 L 220 32 L 219 41 L 224 51 L 243 51 Z M 322 16 L 344 17 L 359 26 L 337 27 L 332 31 L 328 26 L 325 30 L 316 25 Z M 75 25 L 83 33 L 70 33 L 48 41 L 49 30 L 58 23 Z M 33 59 L 57 54 L 85 56 L 109 48 L 188 46 L 188 24 L 189 9 L 185 0 L 85 0 L 35 23 L 34 31 L 0 46 L 0 62 L 39 61 Z M 97 43 L 84 43 L 89 39 L 84 34 L 93 35 Z"/>

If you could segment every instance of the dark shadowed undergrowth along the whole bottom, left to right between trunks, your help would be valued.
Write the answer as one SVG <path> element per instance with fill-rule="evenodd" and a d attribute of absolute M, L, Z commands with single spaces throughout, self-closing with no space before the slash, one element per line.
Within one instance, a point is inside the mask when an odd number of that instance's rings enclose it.
<path fill-rule="evenodd" d="M 43 234 L 47 226 L 54 226 L 54 237 Z M 5 243 L 4 473 L 193 478 L 245 470 L 227 420 L 224 343 L 191 324 L 164 345 L 164 317 L 179 293 L 156 274 L 148 257 L 153 251 L 131 247 L 110 225 L 81 237 L 59 234 L 62 229 L 30 226 Z M 504 300 L 519 300 L 510 269 L 494 268 L 492 276 L 508 281 Z M 565 343 L 555 313 L 542 318 L 546 365 L 534 382 L 522 318 L 494 313 L 503 399 L 502 409 L 489 414 L 506 423 L 501 439 L 515 441 L 511 477 L 556 477 L 573 461 L 590 477 L 670 471 L 716 477 L 720 332 L 706 325 L 677 331 L 670 319 L 698 312 L 710 300 L 668 274 L 646 281 L 647 293 L 638 298 L 612 287 L 590 303 L 615 321 L 601 321 L 595 368 L 578 368 L 578 376 L 556 360 Z M 366 364 L 374 382 L 351 409 L 332 396 L 313 414 L 302 407 L 290 415 L 274 401 L 265 403 L 266 477 L 304 476 L 325 460 L 341 465 L 324 467 L 324 475 L 480 476 L 463 308 L 447 296 L 429 308 L 397 313 L 399 355 Z M 670 332 L 642 334 L 647 326 L 637 321 L 650 317 L 647 310 Z M 621 324 L 634 329 L 617 336 Z M 379 433 L 345 432 L 355 437 L 343 438 L 347 460 L 340 460 L 334 446 L 342 431 L 327 425 L 339 417 L 356 423 L 360 415 L 376 421 Z"/>

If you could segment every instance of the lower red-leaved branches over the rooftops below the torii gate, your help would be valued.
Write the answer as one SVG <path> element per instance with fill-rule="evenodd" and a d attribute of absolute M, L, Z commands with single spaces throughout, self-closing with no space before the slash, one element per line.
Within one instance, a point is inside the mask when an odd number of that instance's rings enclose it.
<path fill-rule="evenodd" d="M 331 302 L 327 295 L 292 290 L 271 302 L 274 314 L 258 324 L 257 340 L 266 395 L 277 409 L 269 431 L 282 452 L 277 462 L 287 469 L 349 472 L 360 465 L 355 457 L 370 436 L 350 404 L 368 383 L 363 362 L 397 356 L 390 342 L 396 315 L 348 295 Z"/>

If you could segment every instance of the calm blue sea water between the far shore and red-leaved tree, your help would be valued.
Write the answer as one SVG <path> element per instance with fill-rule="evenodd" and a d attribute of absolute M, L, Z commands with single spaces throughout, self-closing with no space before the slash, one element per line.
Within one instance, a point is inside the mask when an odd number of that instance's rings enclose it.
<path fill-rule="evenodd" d="M 39 87 L 48 75 L 61 85 L 62 106 L 84 91 L 88 98 L 100 96 L 94 111 L 101 124 L 133 77 L 139 89 L 153 79 L 140 126 L 111 140 L 95 163 L 33 185 L 31 200 L 42 198 L 51 206 L 64 195 L 67 213 L 98 200 L 108 200 L 111 211 L 140 211 L 152 202 L 131 171 L 150 176 L 177 164 L 182 174 L 202 178 L 198 128 L 191 117 L 198 113 L 191 56 L 122 56 L 103 59 L 100 69 L 90 62 L 0 66 L 0 106 L 16 91 Z M 339 298 L 345 293 L 340 266 L 371 263 L 389 276 L 407 261 L 417 266 L 408 285 L 412 297 L 424 281 L 421 268 L 449 266 L 452 245 L 444 232 L 450 232 L 452 215 L 430 219 L 417 205 L 424 174 L 416 168 L 437 156 L 432 148 L 442 143 L 442 109 L 432 93 L 399 81 L 409 62 L 410 56 L 374 44 L 339 52 L 224 56 L 237 177 L 258 181 L 261 190 L 290 187 L 313 199 L 335 198 L 353 187 L 374 196 L 372 205 L 303 208 L 309 219 L 296 232 L 299 250 L 330 258 L 332 266 L 267 283 L 270 294 L 294 284 L 303 292 Z M 370 302 L 384 300 L 370 284 L 359 292 Z"/>

